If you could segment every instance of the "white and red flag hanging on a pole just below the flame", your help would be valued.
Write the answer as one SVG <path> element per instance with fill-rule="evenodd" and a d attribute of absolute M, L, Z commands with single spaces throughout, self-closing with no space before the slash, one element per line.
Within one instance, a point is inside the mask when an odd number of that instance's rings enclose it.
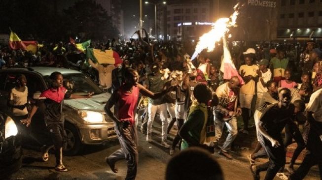
<path fill-rule="evenodd" d="M 235 64 L 231 60 L 231 55 L 228 49 L 227 41 L 225 37 L 222 37 L 223 42 L 223 60 L 221 60 L 220 71 L 223 72 L 223 79 L 231 79 L 233 76 L 237 76 L 240 84 L 245 84 L 243 78 L 239 75 Z"/>

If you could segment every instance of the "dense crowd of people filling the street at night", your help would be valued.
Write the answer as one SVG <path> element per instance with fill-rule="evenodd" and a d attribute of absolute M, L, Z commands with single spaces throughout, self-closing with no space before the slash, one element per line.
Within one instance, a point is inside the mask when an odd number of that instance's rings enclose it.
<path fill-rule="evenodd" d="M 223 72 L 219 71 L 222 60 L 220 46 L 214 53 L 202 52 L 195 60 L 190 60 L 189 54 L 193 52 L 190 41 L 149 41 L 142 38 L 139 31 L 136 33 L 137 40 L 124 42 L 113 39 L 107 43 L 97 41 L 91 44 L 97 49 L 118 52 L 123 59 L 122 64 L 98 64 L 86 60 L 85 55 L 72 44 L 59 42 L 45 44 L 35 54 L 1 46 L 0 66 L 77 68 L 111 93 L 105 111 L 115 122 L 121 149 L 109 155 L 106 162 L 117 173 L 116 161 L 126 159 L 128 180 L 135 179 L 137 174 L 137 123 L 139 120 L 142 122 L 140 129 L 146 134 L 146 141 L 152 142 L 156 114 L 162 122 L 160 144 L 169 149 L 171 155 L 177 148 L 199 147 L 211 153 L 217 151 L 231 159 L 230 150 L 237 134 L 248 135 L 250 128 L 255 126 L 258 143 L 248 156 L 254 180 L 259 180 L 261 171 L 267 171 L 265 180 L 273 180 L 284 169 L 290 173 L 290 180 L 302 180 L 316 164 L 322 173 L 322 47 L 314 41 L 307 42 L 306 46 L 263 43 L 249 48 L 242 43 L 230 43 L 232 61 L 242 79 L 239 76 L 223 79 Z M 59 107 L 64 97 L 91 96 L 69 94 L 63 87 L 60 73 L 53 74 L 51 80 L 54 87 L 40 97 L 48 109 L 55 107 L 57 110 L 54 112 L 57 115 L 55 120 L 49 120 L 53 122 L 49 128 L 55 131 L 56 170 L 67 171 L 62 162 L 63 141 L 57 138 L 64 136 L 64 127 L 59 123 Z M 25 78 L 22 76 L 19 81 L 22 83 L 12 89 L 10 104 L 19 120 L 29 125 L 37 105 L 28 113 L 26 99 L 13 102 L 14 94 L 25 96 L 20 93 L 27 90 L 24 88 Z M 61 91 L 58 101 L 50 100 L 53 98 L 50 95 L 52 89 Z M 113 106 L 114 113 L 110 110 Z M 48 110 L 46 117 L 52 117 L 51 113 Z M 243 127 L 237 125 L 239 116 Z M 175 122 L 178 133 L 171 143 L 169 132 Z M 300 125 L 303 132 L 299 130 Z M 224 126 L 228 135 L 220 143 Z M 284 128 L 285 135 L 282 135 Z M 297 148 L 290 164 L 285 167 L 286 147 L 292 139 L 296 141 Z M 294 171 L 295 160 L 305 148 L 308 153 Z M 45 153 L 43 160 L 46 160 L 48 148 L 42 151 Z M 268 156 L 269 161 L 256 165 L 256 158 L 263 156 Z M 220 168 L 219 171 L 218 179 L 222 179 Z"/>

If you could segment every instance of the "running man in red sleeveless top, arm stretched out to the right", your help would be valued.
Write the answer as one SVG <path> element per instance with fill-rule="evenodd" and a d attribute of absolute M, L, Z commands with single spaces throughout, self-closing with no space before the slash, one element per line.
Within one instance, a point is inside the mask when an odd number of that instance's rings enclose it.
<path fill-rule="evenodd" d="M 105 161 L 110 169 L 117 173 L 118 169 L 115 167 L 115 163 L 118 160 L 126 159 L 128 169 L 125 180 L 134 180 L 137 175 L 139 155 L 135 111 L 139 93 L 152 99 L 157 99 L 177 88 L 171 87 L 167 90 L 153 93 L 138 82 L 138 72 L 131 68 L 126 69 L 124 72 L 124 84 L 112 93 L 104 108 L 107 116 L 114 121 L 115 131 L 121 145 L 121 149 L 110 154 L 105 158 Z M 114 114 L 110 110 L 113 106 Z"/>

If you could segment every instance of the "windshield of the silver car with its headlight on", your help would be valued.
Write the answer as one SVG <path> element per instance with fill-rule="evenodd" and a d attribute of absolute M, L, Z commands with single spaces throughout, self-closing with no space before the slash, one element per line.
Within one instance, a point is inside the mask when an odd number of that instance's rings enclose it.
<path fill-rule="evenodd" d="M 104 93 L 91 79 L 81 73 L 63 74 L 64 87 L 72 94 L 85 95 L 94 92 L 94 95 Z M 46 84 L 50 87 L 50 76 L 44 76 Z"/>

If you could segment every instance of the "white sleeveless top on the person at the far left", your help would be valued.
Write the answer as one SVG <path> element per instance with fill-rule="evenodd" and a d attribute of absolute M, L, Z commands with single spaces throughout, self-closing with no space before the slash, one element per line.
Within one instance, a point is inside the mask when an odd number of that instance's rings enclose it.
<path fill-rule="evenodd" d="M 27 103 L 27 97 L 28 97 L 28 88 L 26 86 L 25 91 L 20 92 L 13 88 L 10 93 L 10 100 L 13 101 L 13 105 L 24 105 Z M 25 116 L 28 114 L 27 107 L 25 107 L 23 110 L 18 109 L 18 108 L 13 108 L 12 109 L 12 114 L 14 116 Z"/>

